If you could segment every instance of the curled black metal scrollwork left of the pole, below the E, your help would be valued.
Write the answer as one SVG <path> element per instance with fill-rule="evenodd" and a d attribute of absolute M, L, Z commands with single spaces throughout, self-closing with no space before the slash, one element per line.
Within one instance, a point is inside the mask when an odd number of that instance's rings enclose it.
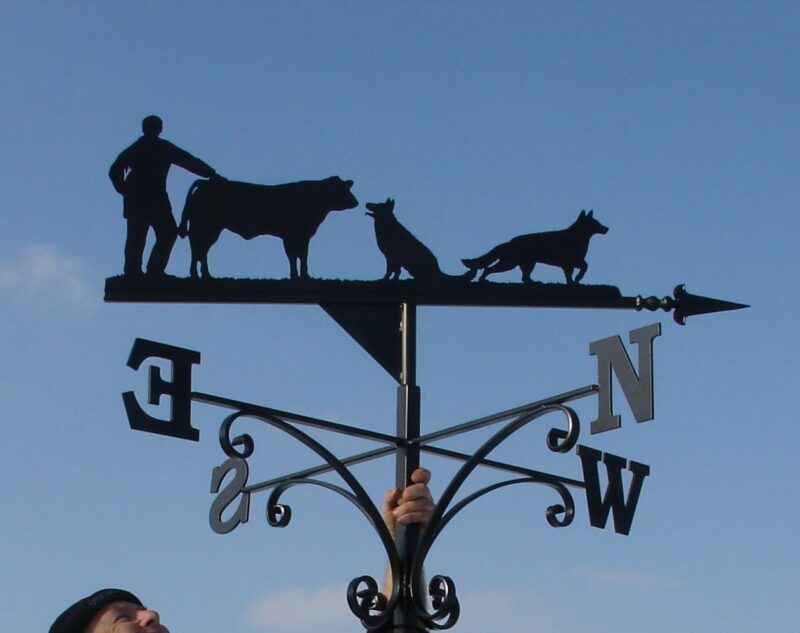
<path fill-rule="evenodd" d="M 395 582 L 392 583 L 392 594 L 387 600 L 379 592 L 378 583 L 374 578 L 360 576 L 351 581 L 348 586 L 347 603 L 350 610 L 361 620 L 362 625 L 367 630 L 375 631 L 385 626 L 392 617 L 392 613 L 400 600 L 400 560 L 392 536 L 389 534 L 389 529 L 384 524 L 383 517 L 375 507 L 372 499 L 370 499 L 348 468 L 333 453 L 303 431 L 273 415 L 237 411 L 226 417 L 220 426 L 219 442 L 222 450 L 229 457 L 247 459 L 255 451 L 255 442 L 250 435 L 243 434 L 231 438 L 233 423 L 240 418 L 251 418 L 265 422 L 292 436 L 325 460 L 350 488 L 352 492 L 340 486 L 316 479 L 290 479 L 282 482 L 270 493 L 266 509 L 267 522 L 273 527 L 285 527 L 289 524 L 292 516 L 291 507 L 281 504 L 280 498 L 289 488 L 302 484 L 321 486 L 331 490 L 357 507 L 378 533 L 386 551 L 386 556 L 389 559 L 390 573 Z"/>

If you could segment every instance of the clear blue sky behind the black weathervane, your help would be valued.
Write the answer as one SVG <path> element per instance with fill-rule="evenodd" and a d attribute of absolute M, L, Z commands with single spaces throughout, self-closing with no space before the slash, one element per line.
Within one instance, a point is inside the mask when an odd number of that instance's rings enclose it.
<path fill-rule="evenodd" d="M 362 206 L 330 216 L 311 242 L 315 276 L 382 276 L 367 201 L 395 198 L 452 273 L 594 209 L 610 230 L 592 241 L 585 283 L 658 296 L 685 283 L 751 304 L 686 327 L 663 313 L 421 308 L 424 430 L 593 383 L 590 342 L 663 328 L 655 420 L 635 423 L 618 397 L 622 428 L 581 437 L 650 465 L 631 534 L 590 527 L 578 495 L 574 523 L 554 530 L 551 494 L 512 487 L 464 511 L 428 571 L 455 580 L 460 633 L 794 630 L 794 4 L 10 2 L 3 14 L 7 629 L 44 630 L 110 585 L 176 633 L 352 631 L 344 588 L 382 574 L 377 538 L 325 491 L 292 490 L 284 530 L 259 519 L 258 498 L 248 524 L 210 530 L 224 412 L 194 406 L 198 443 L 128 428 L 120 394 L 143 401 L 146 388 L 125 365 L 136 337 L 200 351 L 200 391 L 394 427 L 393 381 L 317 307 L 103 303 L 125 234 L 108 166 L 156 113 L 165 138 L 229 178 L 355 181 Z M 193 178 L 173 169 L 176 213 Z M 287 274 L 272 237 L 226 234 L 210 257 L 220 276 Z M 188 265 L 179 242 L 169 272 Z M 587 426 L 593 407 L 578 406 Z M 576 476 L 577 457 L 547 454 L 544 431 L 531 426 L 499 457 Z M 276 435 L 259 431 L 253 477 L 316 463 Z M 424 464 L 438 495 L 456 465 Z M 377 500 L 393 465 L 356 474 Z"/>

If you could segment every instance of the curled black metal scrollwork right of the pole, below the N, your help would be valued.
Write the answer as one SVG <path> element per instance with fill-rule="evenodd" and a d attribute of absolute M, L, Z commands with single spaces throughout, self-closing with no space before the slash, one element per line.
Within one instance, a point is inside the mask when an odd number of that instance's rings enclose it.
<path fill-rule="evenodd" d="M 488 486 L 479 490 L 478 492 L 466 497 L 453 508 L 448 511 L 447 508 L 454 496 L 461 488 L 462 484 L 466 481 L 467 477 L 473 470 L 481 463 L 481 461 L 491 453 L 497 446 L 508 439 L 513 433 L 527 425 L 529 422 L 536 420 L 543 415 L 553 412 L 562 413 L 567 420 L 566 431 L 562 429 L 553 428 L 548 433 L 547 446 L 551 451 L 558 453 L 565 453 L 570 451 L 578 441 L 580 434 L 580 422 L 578 414 L 573 409 L 562 404 L 553 404 L 540 407 L 535 411 L 519 416 L 513 422 L 510 422 L 505 427 L 495 433 L 483 446 L 481 446 L 473 456 L 464 463 L 464 465 L 456 473 L 453 480 L 445 489 L 439 502 L 436 505 L 433 517 L 431 518 L 428 528 L 423 532 L 420 543 L 417 547 L 417 552 L 411 567 L 411 592 L 414 608 L 417 612 L 419 619 L 431 629 L 448 629 L 451 628 L 459 617 L 460 606 L 458 598 L 456 597 L 456 587 L 452 579 L 447 576 L 434 576 L 428 586 L 428 595 L 431 599 L 432 611 L 428 611 L 426 605 L 426 597 L 419 595 L 416 587 L 421 586 L 420 580 L 422 578 L 423 566 L 425 558 L 428 555 L 433 543 L 441 533 L 442 529 L 449 523 L 455 515 L 463 510 L 467 505 L 476 499 L 488 494 L 493 490 L 509 486 L 515 483 L 542 483 L 551 488 L 561 496 L 561 504 L 554 504 L 547 509 L 547 521 L 553 527 L 564 527 L 572 522 L 575 513 L 575 503 L 572 495 L 566 489 L 564 484 L 555 480 L 538 479 L 534 477 L 524 477 L 510 481 L 501 482 L 492 486 Z M 563 517 L 561 516 L 563 515 Z M 561 517 L 561 518 L 559 518 Z"/>

